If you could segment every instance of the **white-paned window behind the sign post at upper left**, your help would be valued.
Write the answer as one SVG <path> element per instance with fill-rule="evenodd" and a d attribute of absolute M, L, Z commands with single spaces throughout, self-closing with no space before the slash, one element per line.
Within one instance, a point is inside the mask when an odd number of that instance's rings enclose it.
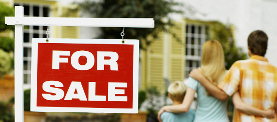
<path fill-rule="evenodd" d="M 32 3 L 15 3 L 15 6 L 24 7 L 26 17 L 48 17 L 49 6 Z M 46 38 L 47 26 L 24 26 L 23 34 L 23 74 L 24 83 L 31 83 L 31 39 Z"/>

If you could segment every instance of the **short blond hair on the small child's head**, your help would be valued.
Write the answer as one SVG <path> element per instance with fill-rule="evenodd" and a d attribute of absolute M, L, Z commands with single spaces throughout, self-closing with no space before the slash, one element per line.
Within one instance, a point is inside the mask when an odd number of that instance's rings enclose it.
<path fill-rule="evenodd" d="M 169 85 L 168 92 L 172 101 L 182 102 L 185 97 L 186 86 L 181 81 L 175 81 Z"/>

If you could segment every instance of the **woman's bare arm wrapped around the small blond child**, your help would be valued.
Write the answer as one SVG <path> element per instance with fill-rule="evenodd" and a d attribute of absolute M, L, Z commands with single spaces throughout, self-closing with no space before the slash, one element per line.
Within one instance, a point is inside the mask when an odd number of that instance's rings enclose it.
<path fill-rule="evenodd" d="M 194 99 L 195 92 L 196 92 L 195 90 L 188 87 L 187 90 L 186 90 L 186 93 L 185 93 L 185 98 L 183 100 L 183 103 L 179 104 L 179 105 L 171 105 L 171 106 L 162 107 L 158 112 L 158 120 L 160 122 L 162 122 L 160 116 L 165 111 L 172 112 L 172 113 L 187 112 L 189 110 L 189 107 L 190 107 L 193 99 Z"/>

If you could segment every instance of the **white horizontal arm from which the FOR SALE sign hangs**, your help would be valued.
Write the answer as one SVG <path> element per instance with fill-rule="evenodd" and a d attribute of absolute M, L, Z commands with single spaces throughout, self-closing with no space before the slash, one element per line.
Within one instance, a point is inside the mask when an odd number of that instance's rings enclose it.
<path fill-rule="evenodd" d="M 5 17 L 7 25 L 154 28 L 153 18 Z"/>

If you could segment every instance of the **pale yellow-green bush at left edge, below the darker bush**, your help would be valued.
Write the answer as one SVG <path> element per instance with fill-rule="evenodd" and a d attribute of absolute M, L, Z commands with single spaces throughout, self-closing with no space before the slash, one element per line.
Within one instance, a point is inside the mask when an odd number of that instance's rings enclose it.
<path fill-rule="evenodd" d="M 9 53 L 0 49 L 0 78 L 11 71 L 11 58 Z"/>

